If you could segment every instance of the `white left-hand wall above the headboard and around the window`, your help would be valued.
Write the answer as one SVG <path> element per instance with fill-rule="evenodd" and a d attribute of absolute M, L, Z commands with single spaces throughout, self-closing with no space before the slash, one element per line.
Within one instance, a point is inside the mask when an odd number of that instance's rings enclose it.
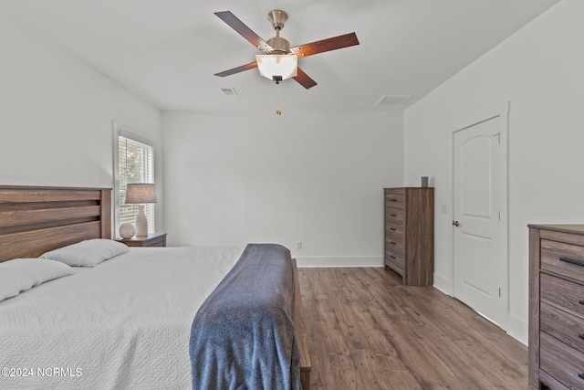
<path fill-rule="evenodd" d="M 112 187 L 112 121 L 162 152 L 161 111 L 0 8 L 0 184 Z"/>

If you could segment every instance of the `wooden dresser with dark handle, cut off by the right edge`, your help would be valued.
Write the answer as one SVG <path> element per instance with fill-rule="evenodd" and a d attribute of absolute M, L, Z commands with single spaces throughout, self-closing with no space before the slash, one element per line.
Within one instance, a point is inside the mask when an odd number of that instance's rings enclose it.
<path fill-rule="evenodd" d="M 529 388 L 584 389 L 584 225 L 529 225 Z"/>

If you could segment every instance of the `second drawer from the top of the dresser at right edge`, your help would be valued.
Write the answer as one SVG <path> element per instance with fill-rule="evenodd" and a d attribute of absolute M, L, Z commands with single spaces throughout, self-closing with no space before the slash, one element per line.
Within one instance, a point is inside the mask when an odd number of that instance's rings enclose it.
<path fill-rule="evenodd" d="M 584 318 L 584 286 L 542 272 L 540 296 L 541 302 Z"/>

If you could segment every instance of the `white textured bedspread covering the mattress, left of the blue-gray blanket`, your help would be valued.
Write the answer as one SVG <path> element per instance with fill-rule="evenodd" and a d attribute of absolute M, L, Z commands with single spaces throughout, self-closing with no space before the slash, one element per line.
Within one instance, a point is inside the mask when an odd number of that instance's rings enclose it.
<path fill-rule="evenodd" d="M 194 314 L 242 251 L 131 248 L 0 302 L 0 388 L 191 388 Z"/>

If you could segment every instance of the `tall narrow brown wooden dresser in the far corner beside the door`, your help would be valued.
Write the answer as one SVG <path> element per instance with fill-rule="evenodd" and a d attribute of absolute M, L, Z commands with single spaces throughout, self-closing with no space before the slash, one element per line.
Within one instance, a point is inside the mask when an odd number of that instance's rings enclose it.
<path fill-rule="evenodd" d="M 434 189 L 384 188 L 386 269 L 403 284 L 430 286 L 434 272 Z"/>

